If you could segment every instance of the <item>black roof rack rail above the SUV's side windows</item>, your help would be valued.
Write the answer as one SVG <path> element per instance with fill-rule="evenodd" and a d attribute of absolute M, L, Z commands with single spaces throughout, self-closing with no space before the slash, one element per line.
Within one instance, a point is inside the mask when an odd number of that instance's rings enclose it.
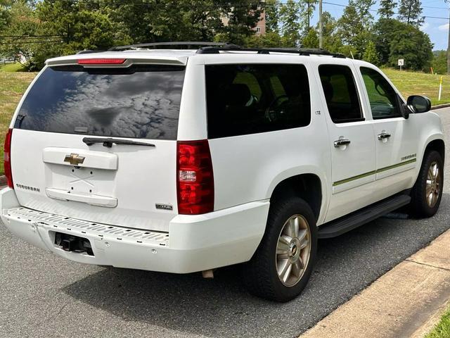
<path fill-rule="evenodd" d="M 270 54 L 270 53 L 290 53 L 300 56 L 310 55 L 326 55 L 333 56 L 333 58 L 347 58 L 344 54 L 330 53 L 325 49 L 316 48 L 243 48 L 236 45 L 223 45 L 223 46 L 204 46 L 197 50 L 197 54 L 219 54 L 221 51 L 256 51 L 257 54 Z"/>

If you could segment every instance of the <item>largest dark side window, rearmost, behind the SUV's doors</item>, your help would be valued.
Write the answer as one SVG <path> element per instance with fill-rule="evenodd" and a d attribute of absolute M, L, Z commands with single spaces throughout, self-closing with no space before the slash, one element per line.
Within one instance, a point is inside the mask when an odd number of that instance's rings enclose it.
<path fill-rule="evenodd" d="M 309 125 L 304 65 L 206 65 L 208 138 Z"/>

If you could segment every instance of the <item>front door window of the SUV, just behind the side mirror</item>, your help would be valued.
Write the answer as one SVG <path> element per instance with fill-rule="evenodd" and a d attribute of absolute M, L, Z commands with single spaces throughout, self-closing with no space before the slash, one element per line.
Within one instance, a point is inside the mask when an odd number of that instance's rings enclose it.
<path fill-rule="evenodd" d="M 399 118 L 401 115 L 394 88 L 376 70 L 366 67 L 360 69 L 366 84 L 373 119 Z"/>

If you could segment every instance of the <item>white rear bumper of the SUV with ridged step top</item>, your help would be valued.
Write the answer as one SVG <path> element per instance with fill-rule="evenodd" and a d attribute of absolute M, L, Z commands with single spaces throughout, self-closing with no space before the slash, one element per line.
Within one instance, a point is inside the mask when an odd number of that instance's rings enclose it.
<path fill-rule="evenodd" d="M 264 235 L 269 201 L 258 201 L 205 215 L 177 215 L 169 232 L 89 223 L 19 205 L 13 189 L 0 191 L 1 220 L 25 241 L 72 261 L 118 268 L 193 273 L 249 261 Z M 63 251 L 55 233 L 84 237 L 94 256 Z"/>

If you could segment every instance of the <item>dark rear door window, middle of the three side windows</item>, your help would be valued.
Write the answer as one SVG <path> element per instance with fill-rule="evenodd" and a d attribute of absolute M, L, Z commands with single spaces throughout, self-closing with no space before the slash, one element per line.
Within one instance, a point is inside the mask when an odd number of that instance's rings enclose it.
<path fill-rule="evenodd" d="M 319 75 L 331 120 L 364 121 L 352 70 L 346 65 L 319 65 Z"/>

